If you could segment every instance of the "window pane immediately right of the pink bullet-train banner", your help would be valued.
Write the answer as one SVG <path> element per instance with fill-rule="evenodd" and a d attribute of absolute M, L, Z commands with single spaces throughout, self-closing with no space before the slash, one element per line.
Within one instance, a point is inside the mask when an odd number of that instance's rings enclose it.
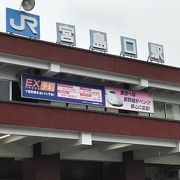
<path fill-rule="evenodd" d="M 154 113 L 151 114 L 151 117 L 165 118 L 165 103 L 155 101 Z"/>

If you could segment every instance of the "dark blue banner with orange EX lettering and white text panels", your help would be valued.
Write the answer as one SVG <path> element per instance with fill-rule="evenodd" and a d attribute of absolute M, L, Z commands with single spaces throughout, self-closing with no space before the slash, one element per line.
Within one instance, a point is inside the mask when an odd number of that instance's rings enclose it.
<path fill-rule="evenodd" d="M 58 79 L 21 75 L 24 98 L 105 106 L 104 87 Z"/>

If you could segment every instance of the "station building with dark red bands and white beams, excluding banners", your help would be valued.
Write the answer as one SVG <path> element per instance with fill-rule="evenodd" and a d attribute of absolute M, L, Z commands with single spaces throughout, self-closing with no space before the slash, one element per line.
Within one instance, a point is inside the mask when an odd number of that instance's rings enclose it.
<path fill-rule="evenodd" d="M 21 97 L 21 74 L 153 95 L 154 113 Z M 0 33 L 1 180 L 177 180 L 180 69 Z"/>

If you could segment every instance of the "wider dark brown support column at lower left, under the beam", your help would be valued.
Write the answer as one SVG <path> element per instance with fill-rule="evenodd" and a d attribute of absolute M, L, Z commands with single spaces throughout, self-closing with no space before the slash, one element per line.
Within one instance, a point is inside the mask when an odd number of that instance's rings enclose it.
<path fill-rule="evenodd" d="M 34 157 L 23 161 L 24 180 L 60 180 L 60 155 L 41 155 L 41 146 L 34 146 Z"/>

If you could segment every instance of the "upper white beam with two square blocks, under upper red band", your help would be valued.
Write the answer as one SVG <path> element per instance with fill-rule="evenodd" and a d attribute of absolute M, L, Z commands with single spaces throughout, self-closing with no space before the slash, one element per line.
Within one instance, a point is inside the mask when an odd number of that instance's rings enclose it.
<path fill-rule="evenodd" d="M 129 83 L 130 85 L 136 85 L 135 86 L 136 90 L 140 90 L 145 87 L 152 87 L 152 88 L 159 88 L 159 89 L 180 92 L 180 84 L 172 84 L 168 82 L 156 81 L 150 79 L 140 79 L 141 77 L 129 76 L 127 74 L 106 72 L 102 70 L 100 71 L 100 70 L 55 63 L 55 62 L 51 63 L 46 60 L 43 61 L 40 59 L 8 55 L 5 53 L 0 53 L 0 63 L 45 70 L 45 72 L 49 74 L 49 76 L 62 72 L 72 75 L 83 76 L 83 77 L 91 77 L 101 80 L 115 81 L 119 83 Z"/>

